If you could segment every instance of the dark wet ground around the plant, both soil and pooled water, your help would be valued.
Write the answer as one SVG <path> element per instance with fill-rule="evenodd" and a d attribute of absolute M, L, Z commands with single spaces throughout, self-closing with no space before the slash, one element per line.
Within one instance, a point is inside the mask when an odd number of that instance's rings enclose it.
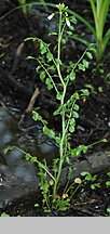
<path fill-rule="evenodd" d="M 75 1 L 73 5 L 71 1 L 67 1 L 67 4 L 84 14 L 80 0 L 78 5 Z M 1 1 L 0 16 L 15 5 L 17 5 L 16 1 Z M 88 6 L 87 1 L 85 1 L 86 6 Z M 26 61 L 28 55 L 37 53 L 37 48 L 31 42 L 24 43 L 24 39 L 37 36 L 47 40 L 46 36 L 52 30 L 47 21 L 50 10 L 41 6 L 33 10 L 36 12 L 32 11 L 28 18 L 17 10 L 0 22 L 0 42 L 3 46 L 0 48 L 0 209 L 1 212 L 6 211 L 11 216 L 44 216 L 44 213 L 41 209 L 37 211 L 33 207 L 38 200 L 40 203 L 36 166 L 26 161 L 19 151 L 14 150 L 4 155 L 3 148 L 11 145 L 20 146 L 30 154 L 37 155 L 39 159 L 45 157 L 49 164 L 57 154 L 56 145 L 42 133 L 41 126 L 32 121 L 30 114 L 26 115 L 22 125 L 19 122 L 37 87 L 40 94 L 35 107 L 40 106 L 41 114 L 47 119 L 50 126 L 56 131 L 60 130 L 59 119 L 52 118 L 57 106 L 54 94 L 49 93 L 40 82 L 36 74 L 36 63 Z M 92 21 L 91 14 L 86 16 Z M 53 27 L 55 28 L 56 24 Z M 84 29 L 82 24 L 77 26 L 78 31 Z M 86 35 L 87 39 L 92 37 L 87 29 Z M 51 42 L 54 44 L 53 40 Z M 84 46 L 79 46 L 77 41 L 73 41 L 68 44 L 64 57 L 77 60 L 83 50 Z M 18 51 L 20 53 L 16 60 Z M 75 89 L 81 89 L 86 83 L 93 86 L 88 100 L 80 102 L 80 118 L 73 135 L 73 144 L 91 144 L 104 138 L 108 142 L 96 144 L 90 154 L 110 151 L 110 77 L 107 77 L 107 74 L 110 74 L 110 61 L 105 62 L 104 73 L 92 72 L 94 68 L 94 63 L 92 63 L 84 75 L 78 74 L 77 81 L 68 92 L 69 96 Z M 80 79 L 81 76 L 82 79 Z M 110 206 L 110 191 L 105 186 L 108 178 L 107 173 L 98 177 L 101 188 L 92 192 L 87 187 L 72 200 L 69 211 L 50 216 L 106 216 L 107 208 Z"/>

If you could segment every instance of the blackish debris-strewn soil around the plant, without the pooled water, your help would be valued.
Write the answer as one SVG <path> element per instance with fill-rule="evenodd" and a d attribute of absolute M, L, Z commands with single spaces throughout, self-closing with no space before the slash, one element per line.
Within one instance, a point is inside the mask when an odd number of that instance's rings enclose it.
<path fill-rule="evenodd" d="M 58 2 L 61 1 L 54 1 L 54 3 Z M 93 22 L 93 16 L 90 14 L 88 1 L 85 0 L 83 4 L 81 4 L 81 0 L 67 0 L 63 2 L 68 4 L 70 9 L 82 14 L 82 16 L 85 16 L 84 9 L 86 9 L 86 18 Z M 17 2 L 14 0 L 0 1 L 0 16 L 15 6 L 17 6 Z M 38 47 L 31 41 L 24 42 L 24 39 L 30 36 L 37 36 L 50 42 L 47 34 L 52 30 L 51 23 L 46 20 L 51 13 L 51 9 L 35 6 L 35 10 L 36 14 L 31 12 L 28 17 L 25 17 L 20 10 L 16 10 L 0 21 L 0 103 L 10 109 L 19 109 L 20 114 L 17 116 L 19 120 L 29 104 L 35 89 L 38 87 L 40 94 L 37 98 L 35 107 L 40 106 L 40 112 L 49 121 L 49 126 L 58 131 L 60 129 L 60 120 L 57 118 L 53 120 L 52 118 L 52 114 L 58 105 L 54 93 L 49 93 L 44 84 L 40 81 L 36 73 L 36 62 L 26 60 L 28 55 L 37 55 Z M 56 25 L 53 25 L 53 27 L 56 27 Z M 109 27 L 108 23 L 107 27 Z M 81 22 L 78 22 L 75 29 L 79 34 L 85 30 L 86 39 L 92 42 L 91 32 Z M 51 43 L 54 46 L 54 38 L 51 38 Z M 109 48 L 110 44 L 108 44 L 104 58 L 110 52 Z M 80 42 L 70 40 L 65 51 L 63 51 L 63 57 L 68 61 L 77 61 L 84 49 L 84 46 Z M 17 56 L 18 51 L 19 55 Z M 90 68 L 84 74 L 78 73 L 77 81 L 69 88 L 67 94 L 67 98 L 69 98 L 70 93 L 73 93 L 77 89 L 84 88 L 86 84 L 93 87 L 93 91 L 90 89 L 90 98 L 86 101 L 80 101 L 80 118 L 77 122 L 77 130 L 72 140 L 75 146 L 80 144 L 93 144 L 105 138 L 108 140 L 107 143 L 96 144 L 90 154 L 93 152 L 110 151 L 110 76 L 107 76 L 108 74 L 110 75 L 110 61 L 109 58 L 105 60 L 98 69 L 96 69 L 95 64 L 96 61 L 94 57 L 90 64 Z M 101 91 L 99 91 L 99 88 L 101 88 Z M 84 156 L 80 160 L 83 158 Z M 37 197 L 39 196 L 36 193 L 28 195 L 28 197 L 13 200 L 1 212 L 5 211 L 10 216 L 28 217 L 106 216 L 107 208 L 110 206 L 110 191 L 105 185 L 107 172 L 98 174 L 101 188 L 92 191 L 88 185 L 83 193 L 78 193 L 71 203 L 70 209 L 66 212 L 44 214 L 41 208 L 36 209 L 33 205 L 37 203 Z"/>

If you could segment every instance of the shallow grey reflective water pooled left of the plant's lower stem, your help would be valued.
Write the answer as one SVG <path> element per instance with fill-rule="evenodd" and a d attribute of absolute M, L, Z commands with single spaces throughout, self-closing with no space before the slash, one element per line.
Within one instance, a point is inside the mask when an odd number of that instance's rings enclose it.
<path fill-rule="evenodd" d="M 37 167 L 25 159 L 24 154 L 14 148 L 6 155 L 3 150 L 17 146 L 39 160 L 51 164 L 57 155 L 57 147 L 39 127 L 19 130 L 18 122 L 5 108 L 0 108 L 0 208 L 5 204 L 38 188 Z"/>

